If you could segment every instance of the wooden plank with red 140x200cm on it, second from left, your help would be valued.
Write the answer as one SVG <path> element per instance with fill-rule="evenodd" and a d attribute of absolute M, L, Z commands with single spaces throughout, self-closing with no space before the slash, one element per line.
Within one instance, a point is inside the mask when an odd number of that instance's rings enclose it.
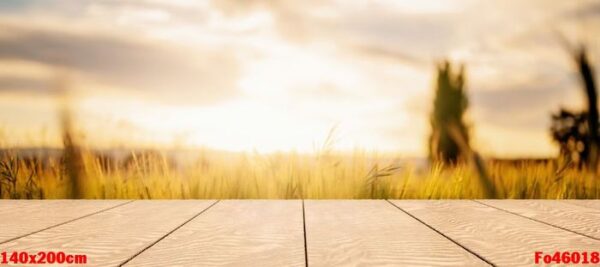
<path fill-rule="evenodd" d="M 118 266 L 214 201 L 135 201 L 0 245 L 0 251 L 87 255 L 90 266 Z"/>

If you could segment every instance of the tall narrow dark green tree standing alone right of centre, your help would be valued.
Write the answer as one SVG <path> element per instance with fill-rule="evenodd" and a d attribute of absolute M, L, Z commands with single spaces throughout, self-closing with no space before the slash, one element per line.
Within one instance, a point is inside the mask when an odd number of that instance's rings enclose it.
<path fill-rule="evenodd" d="M 452 137 L 450 128 L 458 130 L 465 144 L 469 145 L 468 129 L 463 121 L 467 107 L 464 66 L 460 66 L 458 73 L 455 73 L 448 61 L 439 64 L 429 139 L 432 161 L 456 163 L 465 156 L 465 152 Z"/>

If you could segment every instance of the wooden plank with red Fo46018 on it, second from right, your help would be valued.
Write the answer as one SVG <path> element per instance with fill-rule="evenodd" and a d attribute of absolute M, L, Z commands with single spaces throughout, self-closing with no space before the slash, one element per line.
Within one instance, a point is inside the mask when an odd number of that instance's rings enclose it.
<path fill-rule="evenodd" d="M 498 266 L 532 266 L 536 251 L 600 250 L 600 241 L 474 201 L 392 202 Z"/>

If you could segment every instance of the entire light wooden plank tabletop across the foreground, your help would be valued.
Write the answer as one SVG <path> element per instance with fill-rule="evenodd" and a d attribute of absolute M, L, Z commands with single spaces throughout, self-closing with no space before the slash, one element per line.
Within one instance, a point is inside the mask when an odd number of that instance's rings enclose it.
<path fill-rule="evenodd" d="M 13 251 L 88 266 L 528 266 L 536 251 L 600 251 L 600 200 L 0 200 L 0 252 Z"/>

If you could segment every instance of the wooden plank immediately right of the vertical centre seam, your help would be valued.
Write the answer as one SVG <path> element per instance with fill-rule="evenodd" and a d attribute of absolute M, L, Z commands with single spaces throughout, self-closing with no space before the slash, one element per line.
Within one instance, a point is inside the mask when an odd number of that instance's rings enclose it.
<path fill-rule="evenodd" d="M 310 266 L 487 266 L 384 200 L 305 202 Z"/>

